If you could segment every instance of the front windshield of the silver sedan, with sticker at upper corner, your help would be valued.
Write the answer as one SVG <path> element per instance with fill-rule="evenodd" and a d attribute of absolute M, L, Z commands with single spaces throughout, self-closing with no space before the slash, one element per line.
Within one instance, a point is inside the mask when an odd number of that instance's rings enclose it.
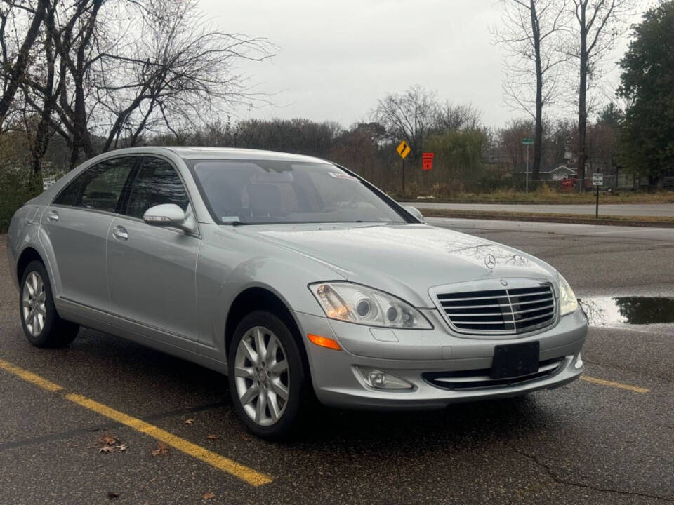
<path fill-rule="evenodd" d="M 220 223 L 406 222 L 357 177 L 329 163 L 190 162 Z"/>

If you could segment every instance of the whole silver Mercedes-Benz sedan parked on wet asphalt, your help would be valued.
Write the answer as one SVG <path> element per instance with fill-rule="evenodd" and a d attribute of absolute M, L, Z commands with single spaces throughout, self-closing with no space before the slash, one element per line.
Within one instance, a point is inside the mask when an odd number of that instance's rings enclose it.
<path fill-rule="evenodd" d="M 315 398 L 442 408 L 583 372 L 587 320 L 553 267 L 309 156 L 108 152 L 17 211 L 8 256 L 31 344 L 83 325 L 223 372 L 258 436 Z"/>

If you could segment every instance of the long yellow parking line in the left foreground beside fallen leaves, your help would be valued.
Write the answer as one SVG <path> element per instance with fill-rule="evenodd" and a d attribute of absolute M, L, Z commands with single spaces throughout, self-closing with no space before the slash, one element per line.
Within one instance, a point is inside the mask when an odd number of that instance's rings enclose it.
<path fill-rule="evenodd" d="M 34 374 L 33 372 L 19 368 L 8 361 L 0 359 L 0 368 L 12 373 L 13 375 L 16 375 L 17 377 L 20 377 L 21 379 L 24 379 L 27 382 L 30 382 L 31 384 L 34 384 L 35 386 L 46 389 L 46 391 L 63 391 L 65 393 L 63 398 L 66 398 L 73 403 L 77 403 L 77 405 L 81 405 L 81 407 L 87 408 L 88 410 L 93 410 L 93 412 L 108 417 L 109 419 L 113 419 L 114 421 L 124 424 L 129 428 L 133 428 L 140 433 L 151 436 L 156 440 L 160 440 L 161 442 L 174 447 L 180 452 L 184 452 L 185 454 L 200 459 L 202 462 L 208 463 L 218 470 L 230 473 L 230 475 L 238 477 L 250 485 L 260 486 L 272 482 L 272 477 L 268 476 L 266 473 L 260 473 L 249 468 L 248 466 L 237 463 L 232 459 L 220 456 L 220 454 L 217 454 L 216 452 L 205 449 L 204 447 L 185 440 L 184 438 L 175 436 L 168 431 L 157 428 L 157 426 L 138 419 L 137 417 L 132 417 L 130 415 L 124 414 L 124 412 L 119 412 L 119 410 L 114 410 L 114 408 L 103 405 L 103 403 L 98 403 L 95 400 L 91 400 L 91 398 L 86 398 L 86 396 L 81 396 L 76 393 L 67 393 L 62 388 L 62 386 L 54 384 L 53 382 L 50 382 L 47 379 Z"/>

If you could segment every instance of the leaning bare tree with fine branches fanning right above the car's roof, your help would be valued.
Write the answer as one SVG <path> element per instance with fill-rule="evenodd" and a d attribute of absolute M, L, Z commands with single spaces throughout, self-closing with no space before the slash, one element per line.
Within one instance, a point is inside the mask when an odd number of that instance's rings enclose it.
<path fill-rule="evenodd" d="M 103 150 L 136 145 L 141 135 L 194 125 L 234 105 L 267 97 L 246 88 L 240 60 L 262 61 L 273 46 L 262 38 L 213 31 L 196 0 L 138 0 L 140 32 L 128 46 L 100 53 L 95 86 L 110 117 Z M 127 16 L 121 16 L 126 19 Z M 110 68 L 115 72 L 110 72 Z"/>

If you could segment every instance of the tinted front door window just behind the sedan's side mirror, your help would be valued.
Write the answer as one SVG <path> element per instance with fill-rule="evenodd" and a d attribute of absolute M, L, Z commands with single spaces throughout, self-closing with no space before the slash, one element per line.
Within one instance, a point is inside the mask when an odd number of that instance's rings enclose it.
<path fill-rule="evenodd" d="M 142 218 L 145 210 L 162 203 L 175 203 L 187 210 L 190 200 L 171 163 L 153 156 L 145 156 L 144 160 L 131 187 L 126 214 Z"/>

